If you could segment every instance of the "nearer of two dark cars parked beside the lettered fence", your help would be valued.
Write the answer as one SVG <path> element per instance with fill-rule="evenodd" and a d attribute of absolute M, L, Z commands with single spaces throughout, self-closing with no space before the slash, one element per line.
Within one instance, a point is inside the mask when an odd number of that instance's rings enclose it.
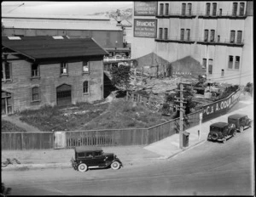
<path fill-rule="evenodd" d="M 227 122 L 216 122 L 210 125 L 208 140 L 226 142 L 228 138 L 236 136 L 236 127 Z"/>

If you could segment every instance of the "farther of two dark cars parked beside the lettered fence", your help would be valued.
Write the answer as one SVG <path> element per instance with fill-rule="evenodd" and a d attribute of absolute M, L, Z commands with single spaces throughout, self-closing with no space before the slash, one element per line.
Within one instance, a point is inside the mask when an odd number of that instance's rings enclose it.
<path fill-rule="evenodd" d="M 228 122 L 235 124 L 236 130 L 243 132 L 245 127 L 252 127 L 253 120 L 249 119 L 247 115 L 235 114 L 228 117 Z"/>

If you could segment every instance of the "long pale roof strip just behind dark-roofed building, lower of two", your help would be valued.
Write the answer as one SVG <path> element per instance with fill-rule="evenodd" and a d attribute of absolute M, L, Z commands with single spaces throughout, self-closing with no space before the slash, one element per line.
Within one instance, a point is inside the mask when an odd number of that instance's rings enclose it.
<path fill-rule="evenodd" d="M 17 29 L 44 29 L 44 30 L 99 30 L 99 31 L 122 31 L 120 26 L 108 22 L 50 22 L 50 21 L 5 21 L 2 20 L 3 28 Z"/>

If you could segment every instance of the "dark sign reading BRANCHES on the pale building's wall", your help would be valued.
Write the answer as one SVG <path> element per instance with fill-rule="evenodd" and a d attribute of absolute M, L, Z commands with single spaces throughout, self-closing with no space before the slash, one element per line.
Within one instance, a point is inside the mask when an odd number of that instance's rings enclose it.
<path fill-rule="evenodd" d="M 134 37 L 156 37 L 157 20 L 134 20 Z"/>

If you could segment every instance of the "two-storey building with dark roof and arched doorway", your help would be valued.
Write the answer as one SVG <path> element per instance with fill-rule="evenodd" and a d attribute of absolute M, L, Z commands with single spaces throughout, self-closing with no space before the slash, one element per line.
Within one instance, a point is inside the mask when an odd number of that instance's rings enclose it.
<path fill-rule="evenodd" d="M 2 37 L 2 114 L 103 98 L 103 56 L 92 38 Z"/>

